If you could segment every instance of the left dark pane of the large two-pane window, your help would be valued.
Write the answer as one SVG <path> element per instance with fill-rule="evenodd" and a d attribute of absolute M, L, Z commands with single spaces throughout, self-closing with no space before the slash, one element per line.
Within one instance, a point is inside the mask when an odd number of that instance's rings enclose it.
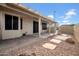
<path fill-rule="evenodd" d="M 5 14 L 5 30 L 12 30 L 12 16 Z"/>

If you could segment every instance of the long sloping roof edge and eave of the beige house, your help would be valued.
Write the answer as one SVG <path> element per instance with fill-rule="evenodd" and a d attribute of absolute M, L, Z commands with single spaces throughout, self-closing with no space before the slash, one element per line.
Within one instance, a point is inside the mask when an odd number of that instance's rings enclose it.
<path fill-rule="evenodd" d="M 51 21 L 51 22 L 56 22 L 56 21 L 54 21 L 53 19 L 51 19 L 51 18 L 49 18 L 49 17 L 46 17 L 46 16 L 43 16 L 43 15 L 41 15 L 39 12 L 37 12 L 37 11 L 34 11 L 34 10 L 32 10 L 32 9 L 29 9 L 29 8 L 26 8 L 26 7 L 24 7 L 23 5 L 21 5 L 21 4 L 16 4 L 16 3 L 6 3 L 5 5 L 3 5 L 3 4 L 0 4 L 1 6 L 3 6 L 3 7 L 10 7 L 11 8 L 11 6 L 13 6 L 13 7 L 15 7 L 15 8 L 17 8 L 17 9 L 19 9 L 19 10 L 21 10 L 21 11 L 25 11 L 25 12 L 28 12 L 29 14 L 31 14 L 31 15 L 33 15 L 33 16 L 36 16 L 36 17 L 41 17 L 41 18 L 43 18 L 43 19 L 47 19 L 48 21 Z M 12 9 L 14 9 L 14 8 L 12 8 Z M 16 10 L 16 9 L 14 9 L 14 10 Z"/>

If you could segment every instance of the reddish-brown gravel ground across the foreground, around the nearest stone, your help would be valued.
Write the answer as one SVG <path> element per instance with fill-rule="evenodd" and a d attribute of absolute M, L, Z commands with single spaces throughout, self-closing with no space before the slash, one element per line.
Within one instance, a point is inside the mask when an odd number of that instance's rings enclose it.
<path fill-rule="evenodd" d="M 29 45 L 24 45 L 17 49 L 9 49 L 3 51 L 3 53 L 9 56 L 79 56 L 79 47 L 66 41 L 56 44 L 57 47 L 53 50 L 44 48 L 42 45 L 45 43 L 55 44 L 50 42 L 52 38 L 39 39 Z"/>

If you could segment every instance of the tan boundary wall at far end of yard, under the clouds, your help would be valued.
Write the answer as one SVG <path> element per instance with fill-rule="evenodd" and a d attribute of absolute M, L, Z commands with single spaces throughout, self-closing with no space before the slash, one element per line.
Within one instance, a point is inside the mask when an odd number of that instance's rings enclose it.
<path fill-rule="evenodd" d="M 59 27 L 61 33 L 73 34 L 73 26 L 71 25 L 62 25 Z"/>

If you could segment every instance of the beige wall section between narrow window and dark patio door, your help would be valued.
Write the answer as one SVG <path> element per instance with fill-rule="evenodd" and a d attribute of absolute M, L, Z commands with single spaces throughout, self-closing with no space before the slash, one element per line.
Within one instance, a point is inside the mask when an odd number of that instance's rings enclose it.
<path fill-rule="evenodd" d="M 33 18 L 26 16 L 23 18 L 23 29 L 22 33 L 26 33 L 26 35 L 33 34 Z"/>

